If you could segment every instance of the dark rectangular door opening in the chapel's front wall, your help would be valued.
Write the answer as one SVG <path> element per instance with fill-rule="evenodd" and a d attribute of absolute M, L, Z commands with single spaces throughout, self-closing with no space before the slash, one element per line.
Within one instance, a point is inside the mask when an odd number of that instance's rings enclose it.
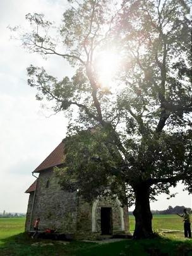
<path fill-rule="evenodd" d="M 112 235 L 112 209 L 111 207 L 101 207 L 100 225 L 102 235 Z"/>

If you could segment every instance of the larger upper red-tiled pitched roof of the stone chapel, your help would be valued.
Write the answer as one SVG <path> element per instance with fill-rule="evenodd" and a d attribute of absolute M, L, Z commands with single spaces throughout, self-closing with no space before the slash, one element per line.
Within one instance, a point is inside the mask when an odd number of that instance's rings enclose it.
<path fill-rule="evenodd" d="M 58 166 L 64 162 L 64 143 L 61 142 L 56 149 L 33 171 L 33 173 L 40 173 L 40 171 Z"/>

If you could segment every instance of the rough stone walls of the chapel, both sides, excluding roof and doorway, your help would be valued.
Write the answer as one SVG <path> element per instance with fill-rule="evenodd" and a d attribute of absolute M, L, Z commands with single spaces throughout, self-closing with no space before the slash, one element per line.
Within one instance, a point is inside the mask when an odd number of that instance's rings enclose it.
<path fill-rule="evenodd" d="M 32 230 L 35 219 L 40 217 L 39 229 L 42 231 L 51 228 L 60 233 L 73 234 L 78 239 L 94 239 L 101 234 L 101 207 L 111 207 L 113 233 L 128 233 L 128 210 L 126 207 L 121 208 L 121 203 L 116 198 L 100 198 L 95 200 L 96 203 L 90 204 L 78 193 L 61 190 L 58 181 L 52 169 L 40 172 L 31 227 L 29 225 L 34 192 L 30 193 L 29 197 L 26 231 Z"/>

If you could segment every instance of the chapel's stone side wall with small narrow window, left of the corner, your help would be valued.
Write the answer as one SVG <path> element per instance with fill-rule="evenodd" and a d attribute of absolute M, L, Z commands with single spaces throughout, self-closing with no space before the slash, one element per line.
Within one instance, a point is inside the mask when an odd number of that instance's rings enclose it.
<path fill-rule="evenodd" d="M 33 205 L 31 229 L 33 229 L 35 219 L 40 217 L 40 230 L 51 228 L 61 233 L 74 234 L 77 213 L 76 193 L 61 190 L 58 181 L 52 169 L 40 172 Z M 27 217 L 27 223 L 28 219 L 29 217 Z"/>

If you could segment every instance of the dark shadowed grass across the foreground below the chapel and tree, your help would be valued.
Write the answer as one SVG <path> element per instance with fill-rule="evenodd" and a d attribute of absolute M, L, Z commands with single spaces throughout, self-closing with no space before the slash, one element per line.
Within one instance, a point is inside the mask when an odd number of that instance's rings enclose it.
<path fill-rule="evenodd" d="M 32 240 L 25 233 L 21 233 L 4 238 L 1 242 L 1 256 L 192 256 L 192 240 L 179 241 L 162 237 L 99 244 L 83 241 Z"/>

